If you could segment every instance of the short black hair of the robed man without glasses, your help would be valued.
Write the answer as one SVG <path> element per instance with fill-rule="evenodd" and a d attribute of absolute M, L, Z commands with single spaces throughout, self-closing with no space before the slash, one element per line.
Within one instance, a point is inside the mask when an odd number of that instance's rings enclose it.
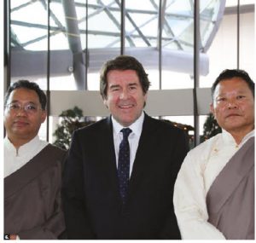
<path fill-rule="evenodd" d="M 249 77 L 248 73 L 244 70 L 240 69 L 225 69 L 223 72 L 221 72 L 218 75 L 218 78 L 216 78 L 215 82 L 212 84 L 212 97 L 216 90 L 217 85 L 224 79 L 231 79 L 231 78 L 241 78 L 244 80 L 247 84 L 249 89 L 253 93 L 254 97 L 254 83 L 253 80 Z"/>

